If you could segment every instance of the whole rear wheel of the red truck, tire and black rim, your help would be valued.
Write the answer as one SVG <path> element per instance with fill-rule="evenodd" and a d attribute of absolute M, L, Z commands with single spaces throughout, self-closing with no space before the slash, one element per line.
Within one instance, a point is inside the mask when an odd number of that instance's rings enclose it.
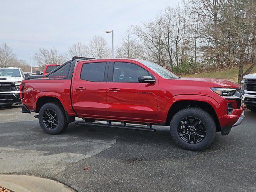
<path fill-rule="evenodd" d="M 39 124 L 48 134 L 59 134 L 68 127 L 68 121 L 62 106 L 56 103 L 44 104 L 38 114 Z"/>

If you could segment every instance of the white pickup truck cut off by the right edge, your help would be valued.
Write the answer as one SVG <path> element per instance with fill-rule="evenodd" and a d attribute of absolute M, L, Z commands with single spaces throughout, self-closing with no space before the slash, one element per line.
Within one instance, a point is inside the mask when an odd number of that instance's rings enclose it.
<path fill-rule="evenodd" d="M 256 111 L 256 73 L 245 75 L 241 86 L 244 89 L 244 104 L 249 110 Z"/>

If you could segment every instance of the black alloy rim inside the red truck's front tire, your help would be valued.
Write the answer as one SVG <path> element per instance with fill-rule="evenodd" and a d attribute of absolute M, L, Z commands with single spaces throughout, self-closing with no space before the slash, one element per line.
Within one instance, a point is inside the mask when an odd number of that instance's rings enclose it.
<path fill-rule="evenodd" d="M 183 118 L 177 130 L 180 138 L 189 144 L 199 143 L 206 136 L 204 123 L 196 117 Z"/>

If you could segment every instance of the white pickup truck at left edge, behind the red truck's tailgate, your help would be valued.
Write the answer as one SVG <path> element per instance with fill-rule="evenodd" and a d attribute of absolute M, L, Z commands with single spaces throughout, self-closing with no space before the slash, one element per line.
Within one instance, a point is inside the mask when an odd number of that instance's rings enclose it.
<path fill-rule="evenodd" d="M 20 68 L 0 67 L 0 106 L 20 104 L 20 84 L 24 78 Z"/>

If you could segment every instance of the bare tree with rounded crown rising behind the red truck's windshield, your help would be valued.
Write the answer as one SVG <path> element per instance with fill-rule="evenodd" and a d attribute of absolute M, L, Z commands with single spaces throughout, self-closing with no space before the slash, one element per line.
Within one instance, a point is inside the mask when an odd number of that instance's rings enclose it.
<path fill-rule="evenodd" d="M 166 6 L 154 20 L 132 26 L 146 59 L 178 72 L 190 50 L 186 13 L 179 6 Z M 143 52 L 142 52 L 143 53 Z"/>

